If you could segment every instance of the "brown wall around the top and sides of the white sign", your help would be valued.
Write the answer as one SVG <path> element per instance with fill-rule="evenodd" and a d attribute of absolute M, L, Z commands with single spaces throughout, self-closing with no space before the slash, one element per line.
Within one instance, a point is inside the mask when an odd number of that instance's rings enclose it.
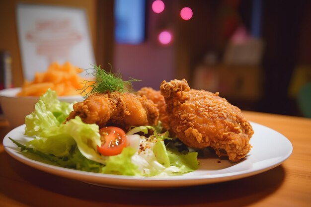
<path fill-rule="evenodd" d="M 18 87 L 23 83 L 22 65 L 19 53 L 18 36 L 16 28 L 16 3 L 36 3 L 46 5 L 72 6 L 86 10 L 91 39 L 96 51 L 96 5 L 97 0 L 1 0 L 0 1 L 0 50 L 7 50 L 12 56 L 13 85 Z"/>

